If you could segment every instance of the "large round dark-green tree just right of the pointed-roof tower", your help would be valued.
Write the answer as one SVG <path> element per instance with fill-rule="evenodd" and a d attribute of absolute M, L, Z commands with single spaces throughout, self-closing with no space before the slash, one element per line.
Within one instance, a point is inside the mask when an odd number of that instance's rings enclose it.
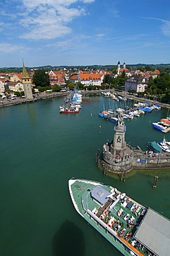
<path fill-rule="evenodd" d="M 50 86 L 50 77 L 44 69 L 38 69 L 32 76 L 32 81 L 35 86 Z"/>

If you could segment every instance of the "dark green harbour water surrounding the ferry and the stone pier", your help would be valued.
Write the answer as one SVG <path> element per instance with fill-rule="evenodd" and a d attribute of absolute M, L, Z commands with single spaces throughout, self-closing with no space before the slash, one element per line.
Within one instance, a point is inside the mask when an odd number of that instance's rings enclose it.
<path fill-rule="evenodd" d="M 160 175 L 153 190 L 153 176 L 143 172 L 123 183 L 97 169 L 95 153 L 113 138 L 114 127 L 98 116 L 103 98 L 86 98 L 75 115 L 59 114 L 62 102 L 53 98 L 0 109 L 2 256 L 121 255 L 73 208 L 68 194 L 73 176 L 113 185 L 170 218 L 168 175 Z M 162 140 L 151 122 L 166 115 L 163 109 L 126 121 L 126 142 L 145 150 L 147 141 Z"/>

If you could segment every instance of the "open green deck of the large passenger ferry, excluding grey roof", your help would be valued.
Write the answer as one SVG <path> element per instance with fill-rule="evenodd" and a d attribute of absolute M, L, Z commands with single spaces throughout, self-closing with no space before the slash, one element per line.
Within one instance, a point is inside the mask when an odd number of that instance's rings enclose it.
<path fill-rule="evenodd" d="M 117 240 L 126 244 L 136 253 L 134 255 L 153 256 L 153 253 L 134 236 L 147 208 L 133 201 L 126 194 L 100 183 L 94 186 L 91 183 L 75 182 L 71 189 L 80 214 L 92 221 L 93 226 L 96 225 L 96 221 L 100 223 L 103 226 L 101 229 L 105 228 Z"/>

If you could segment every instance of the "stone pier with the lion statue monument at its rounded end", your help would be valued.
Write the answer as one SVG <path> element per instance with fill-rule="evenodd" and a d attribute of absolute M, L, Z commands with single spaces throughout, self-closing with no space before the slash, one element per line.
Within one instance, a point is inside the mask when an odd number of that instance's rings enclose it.
<path fill-rule="evenodd" d="M 140 147 L 133 148 L 126 144 L 124 139 L 126 126 L 123 120 L 123 112 L 117 109 L 118 120 L 115 125 L 113 140 L 103 145 L 102 159 L 100 163 L 104 174 L 113 172 L 125 176 L 126 172 L 133 169 L 162 169 L 170 168 L 170 155 L 166 152 L 143 152 Z"/>

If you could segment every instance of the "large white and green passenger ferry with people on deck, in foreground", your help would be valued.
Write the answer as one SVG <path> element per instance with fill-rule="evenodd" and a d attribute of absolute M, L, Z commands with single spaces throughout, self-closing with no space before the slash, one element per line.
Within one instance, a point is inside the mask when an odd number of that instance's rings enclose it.
<path fill-rule="evenodd" d="M 68 188 L 75 210 L 123 255 L 169 255 L 169 219 L 97 181 L 70 179 Z"/>

